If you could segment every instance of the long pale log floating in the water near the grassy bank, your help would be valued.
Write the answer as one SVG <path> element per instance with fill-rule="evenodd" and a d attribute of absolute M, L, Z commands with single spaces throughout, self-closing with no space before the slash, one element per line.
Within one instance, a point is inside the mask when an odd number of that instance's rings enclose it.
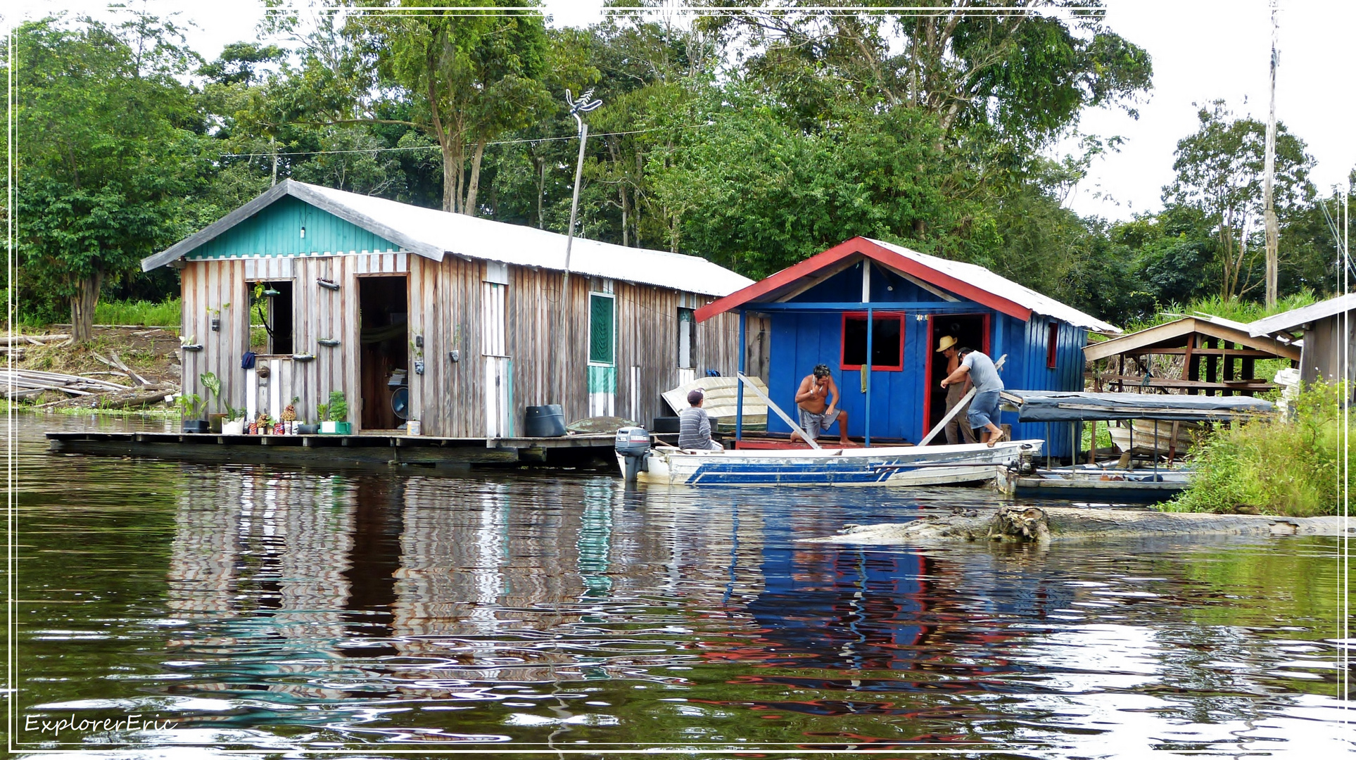
<path fill-rule="evenodd" d="M 849 525 L 807 543 L 911 546 L 946 542 L 1032 540 L 1035 543 L 1143 536 L 1341 536 L 1341 517 L 1201 514 L 1151 509 L 1021 508 L 956 510 L 907 522 Z M 1352 535 L 1356 535 L 1353 529 Z"/>

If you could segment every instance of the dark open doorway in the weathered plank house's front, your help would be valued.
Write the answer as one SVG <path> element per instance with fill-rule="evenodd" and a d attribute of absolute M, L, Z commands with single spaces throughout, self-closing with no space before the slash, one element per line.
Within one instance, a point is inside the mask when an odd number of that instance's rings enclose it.
<path fill-rule="evenodd" d="M 405 385 L 410 369 L 410 299 L 405 277 L 359 277 L 358 315 L 362 429 L 395 430 L 404 421 L 396 415 L 391 399 Z"/>

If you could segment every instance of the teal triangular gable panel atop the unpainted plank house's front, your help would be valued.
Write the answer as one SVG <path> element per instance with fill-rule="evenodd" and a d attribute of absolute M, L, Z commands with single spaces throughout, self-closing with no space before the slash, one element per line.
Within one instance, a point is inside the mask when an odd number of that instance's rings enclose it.
<path fill-rule="evenodd" d="M 301 228 L 306 236 L 301 236 Z M 248 220 L 198 246 L 190 259 L 232 256 L 300 256 L 363 251 L 397 251 L 391 240 L 367 232 L 300 198 L 285 195 Z"/>

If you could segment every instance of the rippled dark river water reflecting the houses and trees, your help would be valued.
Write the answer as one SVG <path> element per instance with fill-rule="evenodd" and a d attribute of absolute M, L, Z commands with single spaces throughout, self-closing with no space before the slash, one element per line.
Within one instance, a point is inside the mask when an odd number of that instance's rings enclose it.
<path fill-rule="evenodd" d="M 795 539 L 997 497 L 205 467 L 42 438 L 165 425 L 19 417 L 20 750 L 1353 748 L 1340 539 L 834 547 Z"/>

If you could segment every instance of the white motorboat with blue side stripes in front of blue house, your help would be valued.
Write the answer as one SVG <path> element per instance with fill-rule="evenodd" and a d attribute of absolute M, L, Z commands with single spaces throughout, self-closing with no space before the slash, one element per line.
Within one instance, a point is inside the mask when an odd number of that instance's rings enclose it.
<path fill-rule="evenodd" d="M 650 449 L 637 480 L 686 486 L 951 486 L 991 482 L 1043 441 L 948 446 L 690 451 Z M 626 474 L 626 457 L 617 455 Z"/>

